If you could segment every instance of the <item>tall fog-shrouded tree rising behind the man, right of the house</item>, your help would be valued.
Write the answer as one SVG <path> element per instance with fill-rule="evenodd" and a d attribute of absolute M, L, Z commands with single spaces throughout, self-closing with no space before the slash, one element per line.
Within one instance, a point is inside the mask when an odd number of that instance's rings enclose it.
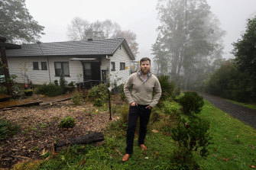
<path fill-rule="evenodd" d="M 170 63 L 173 79 L 183 75 L 185 88 L 188 82 L 202 79 L 214 60 L 222 57 L 225 32 L 209 9 L 206 0 L 159 0 L 157 4 L 161 25 L 152 50 L 166 52 L 157 58 Z"/>

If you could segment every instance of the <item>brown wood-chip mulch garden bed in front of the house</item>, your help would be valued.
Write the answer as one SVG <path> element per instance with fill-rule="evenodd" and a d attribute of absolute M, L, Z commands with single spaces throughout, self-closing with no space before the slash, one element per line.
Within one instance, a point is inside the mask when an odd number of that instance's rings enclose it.
<path fill-rule="evenodd" d="M 0 168 L 11 168 L 19 161 L 41 159 L 53 152 L 53 143 L 91 132 L 101 132 L 111 122 L 108 106 L 93 107 L 91 103 L 79 106 L 72 101 L 62 101 L 46 106 L 34 106 L 1 112 L 2 119 L 21 125 L 18 135 L 0 141 Z M 96 111 L 99 110 L 99 111 Z M 73 117 L 76 126 L 59 127 L 64 117 Z M 112 121 L 118 117 L 112 114 Z"/>

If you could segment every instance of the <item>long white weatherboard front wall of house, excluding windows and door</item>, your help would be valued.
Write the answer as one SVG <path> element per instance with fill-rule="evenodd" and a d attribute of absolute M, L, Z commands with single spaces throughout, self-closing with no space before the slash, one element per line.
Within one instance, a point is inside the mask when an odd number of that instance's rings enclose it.
<path fill-rule="evenodd" d="M 28 79 L 35 85 L 42 85 L 44 83 L 60 81 L 60 76 L 55 75 L 54 62 L 68 62 L 70 69 L 70 76 L 66 76 L 65 80 L 69 82 L 83 82 L 83 66 L 78 60 L 70 60 L 66 57 L 49 57 L 49 68 L 41 70 L 41 62 L 47 62 L 47 57 L 29 57 L 29 58 L 8 58 L 8 67 L 11 75 L 17 75 L 15 82 L 25 83 L 24 69 L 27 70 L 26 75 Z M 38 62 L 39 70 L 33 69 L 33 62 Z M 50 79 L 49 79 L 50 71 Z"/>

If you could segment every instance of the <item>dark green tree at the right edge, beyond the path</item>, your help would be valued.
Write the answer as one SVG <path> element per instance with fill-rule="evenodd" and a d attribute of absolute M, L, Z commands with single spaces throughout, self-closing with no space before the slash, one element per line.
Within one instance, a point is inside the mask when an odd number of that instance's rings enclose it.
<path fill-rule="evenodd" d="M 248 72 L 256 82 L 256 16 L 248 19 L 245 34 L 241 35 L 236 43 L 233 43 L 235 66 L 241 72 Z"/>

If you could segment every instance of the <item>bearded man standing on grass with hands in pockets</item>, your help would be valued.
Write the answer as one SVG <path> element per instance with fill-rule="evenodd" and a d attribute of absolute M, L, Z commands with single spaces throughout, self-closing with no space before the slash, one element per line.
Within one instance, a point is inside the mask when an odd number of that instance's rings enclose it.
<path fill-rule="evenodd" d="M 140 61 L 141 70 L 130 75 L 125 83 L 125 96 L 130 104 L 128 114 L 128 129 L 126 136 L 125 156 L 122 161 L 126 162 L 133 152 L 134 133 L 138 117 L 140 117 L 140 132 L 138 145 L 147 150 L 144 139 L 147 132 L 147 123 L 153 108 L 161 96 L 160 83 L 155 75 L 150 72 L 151 59 L 144 57 Z M 153 96 L 154 90 L 154 98 Z"/>

